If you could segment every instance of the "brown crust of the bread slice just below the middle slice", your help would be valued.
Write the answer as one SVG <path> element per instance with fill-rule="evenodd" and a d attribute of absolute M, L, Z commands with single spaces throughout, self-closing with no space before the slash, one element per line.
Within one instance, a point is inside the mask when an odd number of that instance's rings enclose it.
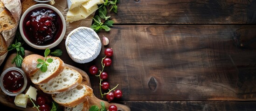
<path fill-rule="evenodd" d="M 52 94 L 52 99 L 53 99 L 56 103 L 58 103 L 58 104 L 60 104 L 60 105 L 62 105 L 62 106 L 64 106 L 64 107 L 75 107 L 76 105 L 79 105 L 80 103 L 83 103 L 84 101 L 88 100 L 88 98 L 91 97 L 91 96 L 92 96 L 92 93 L 93 93 L 92 88 L 90 88 L 89 86 L 87 86 L 87 85 L 85 85 L 85 84 L 80 84 L 80 85 L 85 86 L 86 92 L 85 92 L 85 94 L 84 94 L 83 96 L 81 96 L 79 99 L 76 99 L 76 100 L 74 100 L 74 101 L 72 101 L 72 102 L 69 102 L 69 103 L 60 103 L 58 100 L 55 99 L 56 94 Z"/>

